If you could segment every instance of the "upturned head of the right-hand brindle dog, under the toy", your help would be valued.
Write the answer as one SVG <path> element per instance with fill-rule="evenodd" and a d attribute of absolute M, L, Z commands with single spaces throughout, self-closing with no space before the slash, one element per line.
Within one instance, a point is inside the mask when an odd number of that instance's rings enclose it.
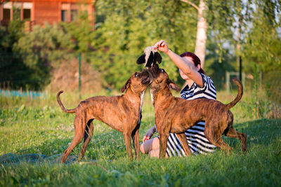
<path fill-rule="evenodd" d="M 155 94 L 164 88 L 176 90 L 177 92 L 181 90 L 174 81 L 171 81 L 164 69 L 159 69 L 158 64 L 155 64 L 154 67 L 148 69 L 148 72 L 152 81 L 150 84 L 152 94 Z"/>

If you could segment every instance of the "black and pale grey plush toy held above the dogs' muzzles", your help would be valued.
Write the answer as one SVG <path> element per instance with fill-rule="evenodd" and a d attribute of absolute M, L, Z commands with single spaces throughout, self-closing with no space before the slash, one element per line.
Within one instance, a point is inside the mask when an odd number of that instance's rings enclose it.
<path fill-rule="evenodd" d="M 156 62 L 159 64 L 162 62 L 161 55 L 157 52 L 157 49 L 153 49 L 153 46 L 145 48 L 145 54 L 138 57 L 137 64 L 145 64 L 145 67 L 154 67 Z"/>

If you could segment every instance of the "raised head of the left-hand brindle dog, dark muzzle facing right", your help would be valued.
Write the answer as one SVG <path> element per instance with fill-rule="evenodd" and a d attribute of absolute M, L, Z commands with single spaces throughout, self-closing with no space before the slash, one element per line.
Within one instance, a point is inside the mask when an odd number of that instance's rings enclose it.
<path fill-rule="evenodd" d="M 148 85 L 151 83 L 150 76 L 148 74 L 148 69 L 143 69 L 141 72 L 134 73 L 123 85 L 121 92 L 127 89 L 133 90 L 133 92 L 141 93 Z"/>

